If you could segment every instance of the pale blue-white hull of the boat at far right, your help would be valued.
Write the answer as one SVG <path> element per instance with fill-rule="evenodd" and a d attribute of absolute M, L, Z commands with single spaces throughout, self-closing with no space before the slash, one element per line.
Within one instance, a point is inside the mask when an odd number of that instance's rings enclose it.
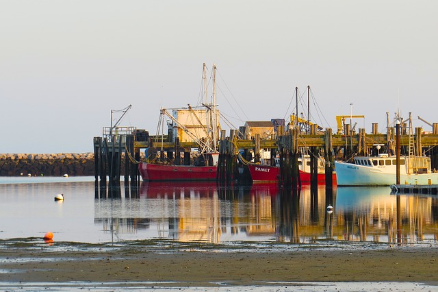
<path fill-rule="evenodd" d="M 335 161 L 338 186 L 391 186 L 396 173 L 376 167 Z M 438 173 L 400 173 L 401 184 L 438 184 Z"/>

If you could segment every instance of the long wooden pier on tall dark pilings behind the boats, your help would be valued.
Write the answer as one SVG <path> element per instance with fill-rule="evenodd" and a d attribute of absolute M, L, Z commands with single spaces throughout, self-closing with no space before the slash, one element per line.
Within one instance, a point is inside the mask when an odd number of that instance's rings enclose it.
<path fill-rule="evenodd" d="M 366 134 L 365 129 L 359 129 L 358 132 L 350 130 L 346 125 L 344 133 L 332 133 L 331 128 L 321 131 L 318 125 L 306 125 L 307 130 L 302 131 L 300 127 L 278 127 L 274 134 L 268 138 L 260 138 L 255 135 L 254 138 L 239 138 L 237 130 L 230 130 L 227 137 L 226 132 L 220 133 L 220 158 L 218 162 L 218 181 L 227 183 L 235 182 L 239 176 L 237 167 L 237 156 L 239 151 L 249 151 L 253 149 L 254 160 L 260 161 L 259 153 L 261 149 L 272 149 L 271 153 L 279 152 L 281 156 L 281 181 L 283 186 L 299 185 L 298 175 L 298 149 L 306 148 L 311 154 L 324 154 L 326 161 L 326 185 L 331 188 L 333 174 L 333 160 L 342 159 L 350 160 L 355 155 L 370 155 L 375 153 L 376 145 L 385 145 L 388 149 L 395 147 L 396 134 L 395 128 L 389 127 L 386 134 L 378 133 L 378 125 L 372 124 L 372 133 Z M 120 127 L 121 128 L 121 127 Z M 121 167 L 124 165 L 125 187 L 127 185 L 138 186 L 140 177 L 138 175 L 138 162 L 140 161 L 140 152 L 146 148 L 155 147 L 178 154 L 179 151 L 190 153 L 193 148 L 197 148 L 195 142 L 183 142 L 176 139 L 172 141 L 171 136 L 140 136 L 135 127 L 127 129 L 117 129 L 111 135 L 103 137 L 94 137 L 94 162 L 95 162 L 95 181 L 96 197 L 106 195 L 105 186 L 107 182 L 110 186 L 120 186 Z M 144 131 L 144 130 L 140 130 Z M 438 124 L 433 124 L 432 133 L 424 133 L 422 128 L 415 128 L 415 134 L 409 135 L 407 127 L 404 125 L 400 134 L 400 148 L 404 153 L 409 153 L 410 143 L 415 144 L 415 152 L 426 153 L 431 158 L 433 169 L 438 169 Z M 403 153 L 403 151 L 402 151 Z M 122 157 L 124 160 L 122 161 Z M 186 156 L 185 156 L 186 157 Z M 273 158 L 271 158 L 273 159 Z M 183 161 L 188 164 L 189 161 Z M 315 163 L 311 163 L 311 173 L 314 171 Z M 99 184 L 100 178 L 100 184 Z M 316 180 L 316 175 L 313 176 Z M 312 185 L 317 182 L 313 181 Z M 100 191 L 99 191 L 100 190 Z M 125 191 L 125 196 L 128 196 Z M 135 194 L 134 194 L 135 195 Z M 121 191 L 108 193 L 108 196 L 120 197 Z"/>

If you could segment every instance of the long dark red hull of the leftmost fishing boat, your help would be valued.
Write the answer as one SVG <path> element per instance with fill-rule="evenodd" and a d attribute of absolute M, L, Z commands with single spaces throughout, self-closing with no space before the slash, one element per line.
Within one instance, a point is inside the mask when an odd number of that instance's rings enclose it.
<path fill-rule="evenodd" d="M 147 181 L 211 181 L 216 180 L 217 167 L 154 165 L 141 162 L 138 170 L 142 175 L 142 179 Z"/>

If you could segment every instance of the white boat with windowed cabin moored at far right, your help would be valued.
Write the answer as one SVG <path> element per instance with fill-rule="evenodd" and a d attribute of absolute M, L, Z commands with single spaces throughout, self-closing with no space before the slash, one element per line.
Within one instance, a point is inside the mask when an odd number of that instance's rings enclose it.
<path fill-rule="evenodd" d="M 390 186 L 396 184 L 396 156 L 357 156 L 352 163 L 335 161 L 338 186 Z M 438 184 L 426 156 L 400 157 L 400 184 Z"/>

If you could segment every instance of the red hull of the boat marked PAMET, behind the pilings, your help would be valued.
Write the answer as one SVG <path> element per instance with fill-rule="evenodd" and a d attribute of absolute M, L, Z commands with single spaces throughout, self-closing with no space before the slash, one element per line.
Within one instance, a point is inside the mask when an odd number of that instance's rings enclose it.
<path fill-rule="evenodd" d="M 248 165 L 248 169 L 253 182 L 278 182 L 280 178 L 280 167 L 272 165 Z M 300 170 L 300 180 L 302 183 L 310 183 L 310 173 Z M 326 181 L 325 173 L 318 173 L 318 183 L 324 184 Z M 333 182 L 336 175 L 333 173 Z"/>

